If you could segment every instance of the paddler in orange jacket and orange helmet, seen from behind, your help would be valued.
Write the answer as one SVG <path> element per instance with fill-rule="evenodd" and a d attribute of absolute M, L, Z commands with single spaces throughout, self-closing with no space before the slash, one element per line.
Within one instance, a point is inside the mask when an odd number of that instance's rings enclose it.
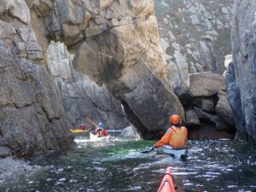
<path fill-rule="evenodd" d="M 163 145 L 171 145 L 172 148 L 184 148 L 187 145 L 188 130 L 181 125 L 181 118 L 177 114 L 170 117 L 172 126 L 161 137 L 160 141 L 154 144 L 153 148 L 160 148 Z"/>

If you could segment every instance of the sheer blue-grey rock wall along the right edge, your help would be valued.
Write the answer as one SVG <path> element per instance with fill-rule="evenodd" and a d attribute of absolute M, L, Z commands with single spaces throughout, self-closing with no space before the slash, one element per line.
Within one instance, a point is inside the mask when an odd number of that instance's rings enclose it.
<path fill-rule="evenodd" d="M 236 0 L 232 20 L 233 63 L 226 73 L 228 100 L 239 137 L 256 138 L 256 2 Z"/>

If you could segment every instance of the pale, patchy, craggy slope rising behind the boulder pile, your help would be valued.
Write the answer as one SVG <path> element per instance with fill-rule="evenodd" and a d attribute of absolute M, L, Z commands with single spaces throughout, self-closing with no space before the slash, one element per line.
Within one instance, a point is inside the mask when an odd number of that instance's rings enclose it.
<path fill-rule="evenodd" d="M 232 7 L 233 0 L 154 0 L 167 79 L 177 96 L 186 94 L 189 73 L 224 73 Z"/>

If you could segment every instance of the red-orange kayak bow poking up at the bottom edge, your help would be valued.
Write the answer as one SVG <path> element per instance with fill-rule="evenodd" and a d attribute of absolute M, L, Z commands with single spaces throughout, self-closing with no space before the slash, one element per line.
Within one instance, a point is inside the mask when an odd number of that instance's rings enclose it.
<path fill-rule="evenodd" d="M 166 174 L 164 175 L 157 192 L 176 192 L 172 172 L 169 167 L 166 168 Z"/>

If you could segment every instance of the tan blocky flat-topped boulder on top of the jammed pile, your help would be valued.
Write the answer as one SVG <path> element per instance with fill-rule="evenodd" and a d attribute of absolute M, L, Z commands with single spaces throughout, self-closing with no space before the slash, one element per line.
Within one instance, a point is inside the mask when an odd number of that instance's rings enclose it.
<path fill-rule="evenodd" d="M 225 79 L 212 72 L 189 74 L 190 96 L 213 96 L 218 90 L 225 90 Z"/>

